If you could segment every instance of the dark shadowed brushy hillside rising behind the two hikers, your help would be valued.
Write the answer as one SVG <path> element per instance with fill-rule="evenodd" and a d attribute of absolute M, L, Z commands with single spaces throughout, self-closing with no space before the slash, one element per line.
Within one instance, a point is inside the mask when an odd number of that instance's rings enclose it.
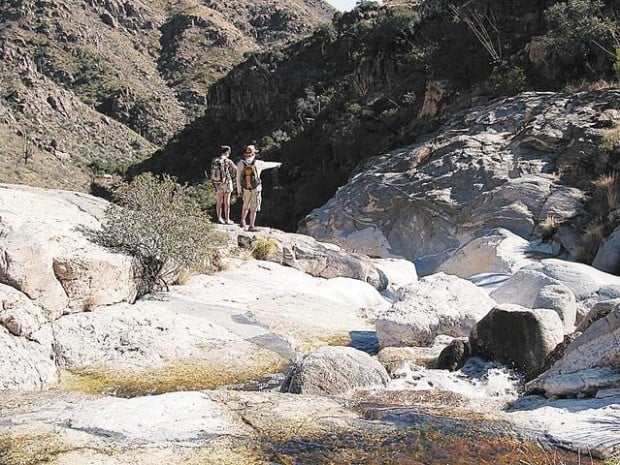
<path fill-rule="evenodd" d="M 210 88 L 203 117 L 134 171 L 199 181 L 219 145 L 238 158 L 255 142 L 265 159 L 284 163 L 265 174 L 261 221 L 295 230 L 361 163 L 426 137 L 451 112 L 583 74 L 528 55 L 553 2 L 417 3 L 358 8 L 303 42 L 251 57 Z M 490 44 L 472 28 L 478 19 Z"/>

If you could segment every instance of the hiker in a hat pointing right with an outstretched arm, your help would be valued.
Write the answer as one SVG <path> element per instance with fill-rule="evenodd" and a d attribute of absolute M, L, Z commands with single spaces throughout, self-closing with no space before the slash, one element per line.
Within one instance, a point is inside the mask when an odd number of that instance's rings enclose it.
<path fill-rule="evenodd" d="M 250 225 L 248 231 L 256 231 L 256 213 L 260 211 L 262 201 L 261 172 L 282 166 L 282 163 L 279 162 L 257 160 L 257 153 L 258 150 L 256 150 L 255 146 L 248 145 L 243 152 L 243 160 L 237 164 L 237 191 L 243 198 L 241 227 L 246 227 L 246 219 L 249 212 Z"/>

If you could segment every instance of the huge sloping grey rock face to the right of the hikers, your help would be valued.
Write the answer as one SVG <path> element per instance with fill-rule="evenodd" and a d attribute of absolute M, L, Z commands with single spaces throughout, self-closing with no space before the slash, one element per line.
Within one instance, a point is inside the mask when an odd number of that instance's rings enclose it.
<path fill-rule="evenodd" d="M 575 257 L 583 238 L 566 231 L 585 196 L 554 173 L 598 152 L 592 128 L 610 102 L 620 92 L 525 93 L 455 115 L 423 141 L 369 160 L 300 232 L 400 255 L 421 275 L 495 228 L 532 241 L 551 236 Z"/>

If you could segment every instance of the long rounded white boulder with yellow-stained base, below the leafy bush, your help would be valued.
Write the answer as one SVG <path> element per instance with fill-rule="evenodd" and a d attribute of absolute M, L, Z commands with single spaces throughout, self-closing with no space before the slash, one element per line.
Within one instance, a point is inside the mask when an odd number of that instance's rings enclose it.
<path fill-rule="evenodd" d="M 285 354 L 274 347 L 234 334 L 200 311 L 175 309 L 175 303 L 142 300 L 57 320 L 61 387 L 127 396 L 208 389 L 255 381 L 286 366 Z"/>

